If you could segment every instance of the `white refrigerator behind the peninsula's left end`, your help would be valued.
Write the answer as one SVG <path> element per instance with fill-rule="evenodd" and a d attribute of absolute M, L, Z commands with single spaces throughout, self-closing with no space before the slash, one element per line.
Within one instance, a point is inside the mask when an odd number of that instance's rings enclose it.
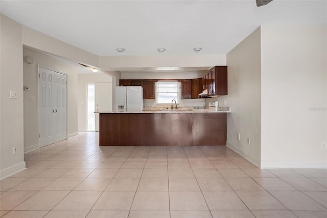
<path fill-rule="evenodd" d="M 115 111 L 142 111 L 143 88 L 142 86 L 116 86 Z"/>

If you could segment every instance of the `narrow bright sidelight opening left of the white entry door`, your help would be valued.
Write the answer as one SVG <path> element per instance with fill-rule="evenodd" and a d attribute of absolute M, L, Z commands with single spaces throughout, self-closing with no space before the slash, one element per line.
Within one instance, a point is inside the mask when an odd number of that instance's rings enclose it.
<path fill-rule="evenodd" d="M 87 83 L 87 131 L 96 130 L 95 83 Z"/>

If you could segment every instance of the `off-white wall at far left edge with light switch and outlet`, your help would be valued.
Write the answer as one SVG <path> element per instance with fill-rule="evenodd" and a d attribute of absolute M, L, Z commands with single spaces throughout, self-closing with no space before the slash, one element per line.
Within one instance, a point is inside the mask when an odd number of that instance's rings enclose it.
<path fill-rule="evenodd" d="M 0 179 L 25 168 L 21 26 L 0 15 Z M 10 99 L 10 90 L 17 99 Z M 17 147 L 17 155 L 13 155 Z"/>

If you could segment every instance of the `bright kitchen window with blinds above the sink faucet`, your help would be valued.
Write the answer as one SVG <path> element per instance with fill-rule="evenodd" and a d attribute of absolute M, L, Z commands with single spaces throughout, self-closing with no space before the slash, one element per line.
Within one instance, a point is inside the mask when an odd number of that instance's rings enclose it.
<path fill-rule="evenodd" d="M 171 104 L 175 99 L 178 104 L 178 81 L 157 82 L 157 104 Z"/>

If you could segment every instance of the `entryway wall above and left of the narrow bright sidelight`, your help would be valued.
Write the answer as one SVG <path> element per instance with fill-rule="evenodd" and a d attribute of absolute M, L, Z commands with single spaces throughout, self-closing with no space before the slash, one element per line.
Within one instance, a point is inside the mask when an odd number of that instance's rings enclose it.
<path fill-rule="evenodd" d="M 87 83 L 88 82 L 112 83 L 112 77 L 104 73 L 78 74 L 78 132 L 86 132 L 87 130 Z"/>

